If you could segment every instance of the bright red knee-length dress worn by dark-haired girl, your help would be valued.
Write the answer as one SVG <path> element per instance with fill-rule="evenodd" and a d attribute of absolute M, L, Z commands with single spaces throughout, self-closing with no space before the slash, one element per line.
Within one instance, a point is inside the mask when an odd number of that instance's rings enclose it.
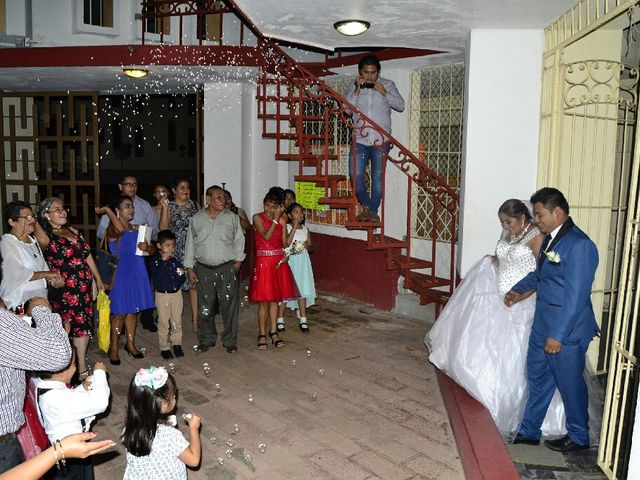
<path fill-rule="evenodd" d="M 260 214 L 265 229 L 271 225 L 271 220 Z M 279 302 L 298 298 L 298 288 L 289 268 L 284 262 L 278 268 L 278 262 L 284 257 L 282 248 L 282 225 L 278 223 L 270 240 L 265 240 L 256 232 L 256 258 L 249 286 L 249 300 L 252 302 Z"/>

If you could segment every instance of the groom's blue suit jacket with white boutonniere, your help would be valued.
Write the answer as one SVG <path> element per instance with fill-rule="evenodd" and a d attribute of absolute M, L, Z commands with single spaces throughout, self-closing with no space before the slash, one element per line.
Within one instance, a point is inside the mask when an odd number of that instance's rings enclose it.
<path fill-rule="evenodd" d="M 591 285 L 598 267 L 598 250 L 591 239 L 569 218 L 547 247 L 560 256 L 553 263 L 544 254 L 538 268 L 520 280 L 512 290 L 536 290 L 533 331 L 562 343 L 593 338 L 599 331 Z"/>

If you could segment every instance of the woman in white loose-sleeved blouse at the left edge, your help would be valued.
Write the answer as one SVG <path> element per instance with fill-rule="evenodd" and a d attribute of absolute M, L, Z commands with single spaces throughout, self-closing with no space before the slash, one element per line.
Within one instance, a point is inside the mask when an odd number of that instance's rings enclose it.
<path fill-rule="evenodd" d="M 47 287 L 60 288 L 62 277 L 49 270 L 33 234 L 36 217 L 25 202 L 9 202 L 4 207 L 5 229 L 2 235 L 2 283 L 0 298 L 7 308 L 24 313 L 27 300 L 46 297 Z"/>

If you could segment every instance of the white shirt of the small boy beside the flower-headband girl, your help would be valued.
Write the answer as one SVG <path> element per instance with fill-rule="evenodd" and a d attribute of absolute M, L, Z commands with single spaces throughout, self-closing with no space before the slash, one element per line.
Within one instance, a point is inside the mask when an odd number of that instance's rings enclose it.
<path fill-rule="evenodd" d="M 36 379 L 38 416 L 51 443 L 72 433 L 88 432 L 98 413 L 109 406 L 109 384 L 104 370 L 93 372 L 89 390 L 75 388 L 57 380 Z M 38 391 L 49 389 L 38 397 Z M 83 421 L 84 420 L 84 425 Z"/>

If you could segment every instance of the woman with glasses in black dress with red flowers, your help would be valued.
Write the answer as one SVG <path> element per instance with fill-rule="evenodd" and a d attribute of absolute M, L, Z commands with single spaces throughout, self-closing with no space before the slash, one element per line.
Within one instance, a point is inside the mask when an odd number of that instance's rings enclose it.
<path fill-rule="evenodd" d="M 49 197 L 40 202 L 35 235 L 51 270 L 60 273 L 61 288 L 49 289 L 49 302 L 63 322 L 70 324 L 69 337 L 76 350 L 78 376 L 89 376 L 87 349 L 93 331 L 93 281 L 104 290 L 91 248 L 80 232 L 69 225 L 68 212 L 62 200 Z"/>

